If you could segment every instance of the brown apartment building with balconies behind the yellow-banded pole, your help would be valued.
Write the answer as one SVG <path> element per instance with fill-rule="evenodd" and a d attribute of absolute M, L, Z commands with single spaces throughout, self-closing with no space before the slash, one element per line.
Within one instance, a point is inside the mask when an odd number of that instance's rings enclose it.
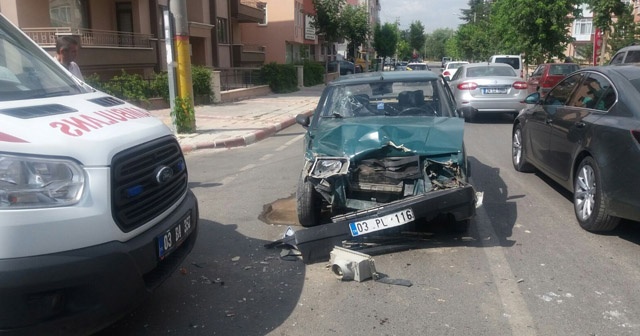
<path fill-rule="evenodd" d="M 194 65 L 229 68 L 264 62 L 261 45 L 240 40 L 240 24 L 259 23 L 255 0 L 185 0 Z M 164 13 L 168 0 L 0 0 L 0 13 L 52 55 L 59 35 L 80 42 L 83 74 L 103 78 L 166 69 Z"/>

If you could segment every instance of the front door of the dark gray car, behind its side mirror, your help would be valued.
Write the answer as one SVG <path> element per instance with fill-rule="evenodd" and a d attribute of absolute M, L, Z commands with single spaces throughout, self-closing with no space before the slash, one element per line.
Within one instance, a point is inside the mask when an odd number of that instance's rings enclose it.
<path fill-rule="evenodd" d="M 528 111 L 526 133 L 531 158 L 544 170 L 551 165 L 551 121 L 558 109 L 563 108 L 582 79 L 582 74 L 565 78 L 543 98 L 542 103 Z"/>

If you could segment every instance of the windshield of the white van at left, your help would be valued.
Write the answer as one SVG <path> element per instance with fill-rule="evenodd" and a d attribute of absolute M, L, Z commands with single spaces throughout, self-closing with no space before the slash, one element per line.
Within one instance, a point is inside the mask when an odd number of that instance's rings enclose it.
<path fill-rule="evenodd" d="M 66 96 L 86 91 L 51 57 L 0 20 L 0 101 Z M 35 56 L 35 57 L 34 57 Z"/>

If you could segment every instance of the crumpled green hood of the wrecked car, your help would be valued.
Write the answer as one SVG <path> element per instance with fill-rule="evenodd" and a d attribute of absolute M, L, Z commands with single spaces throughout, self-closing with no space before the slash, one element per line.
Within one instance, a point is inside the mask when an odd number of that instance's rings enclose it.
<path fill-rule="evenodd" d="M 370 117 L 325 119 L 313 130 L 316 156 L 353 158 L 391 145 L 433 156 L 462 150 L 464 119 L 444 117 Z"/>

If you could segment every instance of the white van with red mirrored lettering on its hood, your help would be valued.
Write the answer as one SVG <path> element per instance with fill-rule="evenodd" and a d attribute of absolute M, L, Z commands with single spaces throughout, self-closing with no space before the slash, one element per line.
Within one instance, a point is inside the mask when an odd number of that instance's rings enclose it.
<path fill-rule="evenodd" d="M 0 14 L 0 333 L 90 334 L 193 248 L 180 145 L 96 91 Z"/>

